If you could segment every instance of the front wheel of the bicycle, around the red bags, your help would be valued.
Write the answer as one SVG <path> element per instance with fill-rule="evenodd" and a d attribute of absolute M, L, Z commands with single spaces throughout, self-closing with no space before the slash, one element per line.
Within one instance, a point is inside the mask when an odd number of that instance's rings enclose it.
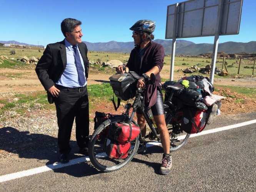
<path fill-rule="evenodd" d="M 103 141 L 99 139 L 100 134 L 104 133 L 104 130 L 106 127 L 110 126 L 111 123 L 115 122 L 121 122 L 123 121 L 124 117 L 118 117 L 111 120 L 106 120 L 98 128 L 95 129 L 93 132 L 93 135 L 91 136 L 90 143 L 89 143 L 89 150 L 88 154 L 90 157 L 90 161 L 93 164 L 96 169 L 104 171 L 104 172 L 112 172 L 118 169 L 121 169 L 121 167 L 125 166 L 130 162 L 133 157 L 135 156 L 138 147 L 139 147 L 139 137 L 136 137 L 131 142 L 131 149 L 129 152 L 128 157 L 125 159 L 111 159 L 108 157 L 104 151 L 104 143 L 106 139 L 106 135 L 101 138 Z M 137 125 L 135 121 L 132 121 Z M 101 135 L 102 136 L 102 135 Z M 104 138 L 105 137 L 105 138 Z"/>

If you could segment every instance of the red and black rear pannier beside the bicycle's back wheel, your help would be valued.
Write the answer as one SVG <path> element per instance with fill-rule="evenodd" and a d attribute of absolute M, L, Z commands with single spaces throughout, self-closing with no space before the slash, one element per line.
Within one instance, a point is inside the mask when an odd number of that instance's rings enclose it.
<path fill-rule="evenodd" d="M 181 129 L 190 134 L 201 132 L 206 126 L 206 117 L 204 109 L 184 108 Z"/>

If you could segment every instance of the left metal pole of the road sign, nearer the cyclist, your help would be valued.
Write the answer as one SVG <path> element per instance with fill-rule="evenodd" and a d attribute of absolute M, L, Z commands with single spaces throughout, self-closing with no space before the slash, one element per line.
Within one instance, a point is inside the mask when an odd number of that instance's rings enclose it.
<path fill-rule="evenodd" d="M 175 60 L 175 48 L 176 48 L 176 33 L 177 33 L 177 13 L 178 13 L 178 5 L 179 3 L 176 3 L 175 5 L 175 18 L 173 22 L 173 43 L 171 48 L 171 68 L 170 68 L 170 81 L 173 81 L 173 73 L 174 73 L 174 60 Z"/>

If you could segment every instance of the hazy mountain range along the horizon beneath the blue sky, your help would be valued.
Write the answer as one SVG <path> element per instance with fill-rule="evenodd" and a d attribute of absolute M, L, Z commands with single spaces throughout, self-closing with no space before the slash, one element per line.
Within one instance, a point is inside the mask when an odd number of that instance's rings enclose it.
<path fill-rule="evenodd" d="M 0 41 L 0 43 L 15 43 L 18 45 L 28 45 L 27 43 L 20 43 L 18 41 Z M 134 48 L 133 41 L 131 42 L 117 42 L 117 41 L 109 41 L 106 43 L 90 43 L 87 41 L 83 41 L 86 43 L 88 50 L 90 51 L 105 51 L 105 52 L 121 52 L 121 53 L 130 53 Z M 171 54 L 172 40 L 154 40 L 156 43 L 160 43 L 165 48 L 165 54 Z M 37 46 L 37 45 L 30 45 Z M 42 46 L 42 45 L 39 45 Z M 212 53 L 213 52 L 213 44 L 211 43 L 193 43 L 191 41 L 186 40 L 176 40 L 176 55 L 200 55 L 203 53 Z M 219 43 L 218 52 L 225 53 L 256 53 L 256 41 L 250 41 L 248 43 L 238 43 L 238 42 L 225 42 Z"/>

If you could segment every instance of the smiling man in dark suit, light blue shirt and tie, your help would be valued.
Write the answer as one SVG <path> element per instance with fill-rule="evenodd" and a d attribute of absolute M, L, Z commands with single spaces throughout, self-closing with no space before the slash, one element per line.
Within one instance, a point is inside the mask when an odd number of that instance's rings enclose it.
<path fill-rule="evenodd" d="M 75 119 L 76 141 L 80 153 L 88 155 L 89 102 L 87 78 L 89 60 L 82 43 L 81 22 L 66 18 L 61 23 L 65 39 L 47 45 L 37 63 L 36 73 L 47 91 L 49 103 L 55 103 L 58 119 L 60 162 L 69 162 L 71 129 Z"/>

